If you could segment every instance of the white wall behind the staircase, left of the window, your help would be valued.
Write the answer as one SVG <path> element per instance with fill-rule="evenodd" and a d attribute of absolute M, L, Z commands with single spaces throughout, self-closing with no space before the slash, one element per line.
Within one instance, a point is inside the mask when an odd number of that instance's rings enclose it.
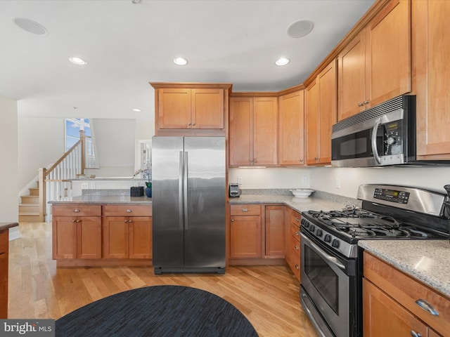
<path fill-rule="evenodd" d="M 64 154 L 64 128 L 63 118 L 18 119 L 19 190 Z"/>

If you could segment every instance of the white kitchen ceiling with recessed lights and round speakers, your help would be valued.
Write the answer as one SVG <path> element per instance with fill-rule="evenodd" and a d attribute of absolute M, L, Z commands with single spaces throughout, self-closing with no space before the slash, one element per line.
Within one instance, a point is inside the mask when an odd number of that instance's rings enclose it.
<path fill-rule="evenodd" d="M 19 117 L 153 119 L 150 81 L 279 91 L 301 84 L 373 2 L 1 0 L 0 95 L 18 100 Z M 25 32 L 13 17 L 49 34 Z M 288 37 L 299 19 L 314 29 Z M 177 56 L 188 65 L 174 65 Z M 281 56 L 290 64 L 274 65 Z"/>

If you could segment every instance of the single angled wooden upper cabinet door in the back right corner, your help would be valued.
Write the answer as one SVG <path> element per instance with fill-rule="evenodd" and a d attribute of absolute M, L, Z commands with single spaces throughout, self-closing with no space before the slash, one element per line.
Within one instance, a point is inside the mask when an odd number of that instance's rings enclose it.
<path fill-rule="evenodd" d="M 304 91 L 279 98 L 278 164 L 304 165 Z"/>

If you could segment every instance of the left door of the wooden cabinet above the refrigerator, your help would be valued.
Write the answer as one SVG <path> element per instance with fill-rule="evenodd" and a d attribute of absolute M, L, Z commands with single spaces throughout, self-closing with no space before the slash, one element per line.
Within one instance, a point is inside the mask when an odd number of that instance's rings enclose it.
<path fill-rule="evenodd" d="M 158 128 L 191 128 L 191 89 L 161 88 L 158 96 Z"/>

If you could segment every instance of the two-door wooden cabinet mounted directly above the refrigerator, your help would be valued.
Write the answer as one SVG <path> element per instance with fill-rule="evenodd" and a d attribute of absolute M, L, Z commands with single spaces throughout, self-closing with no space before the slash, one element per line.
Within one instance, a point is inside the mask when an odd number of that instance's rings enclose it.
<path fill-rule="evenodd" d="M 155 88 L 155 135 L 219 136 L 217 131 L 224 133 L 231 84 L 150 84 Z"/>

